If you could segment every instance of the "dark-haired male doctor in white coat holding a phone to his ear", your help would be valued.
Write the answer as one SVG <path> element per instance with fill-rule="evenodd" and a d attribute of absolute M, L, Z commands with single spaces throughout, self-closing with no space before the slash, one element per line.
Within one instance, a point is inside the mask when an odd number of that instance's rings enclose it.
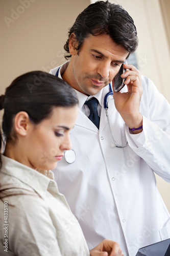
<path fill-rule="evenodd" d="M 79 98 L 72 151 L 54 170 L 59 190 L 89 248 L 109 238 L 127 256 L 170 238 L 170 216 L 154 175 L 170 182 L 168 102 L 150 79 L 126 64 L 126 86 L 107 100 L 111 131 L 104 108 L 108 84 L 114 88 L 115 75 L 137 45 L 129 14 L 119 5 L 96 2 L 69 30 L 64 49 L 70 61 L 50 72 L 67 81 Z M 95 124 L 90 100 L 95 101 Z M 115 147 L 112 137 L 128 146 Z"/>

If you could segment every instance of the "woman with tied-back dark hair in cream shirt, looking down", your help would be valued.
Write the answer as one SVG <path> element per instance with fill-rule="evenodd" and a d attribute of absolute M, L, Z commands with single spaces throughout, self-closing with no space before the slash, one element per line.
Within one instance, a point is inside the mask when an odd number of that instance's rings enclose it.
<path fill-rule="evenodd" d="M 29 72 L 6 89 L 0 109 L 6 142 L 0 171 L 1 255 L 122 256 L 111 240 L 89 252 L 50 170 L 71 149 L 69 132 L 78 115 L 74 90 L 53 75 Z"/>

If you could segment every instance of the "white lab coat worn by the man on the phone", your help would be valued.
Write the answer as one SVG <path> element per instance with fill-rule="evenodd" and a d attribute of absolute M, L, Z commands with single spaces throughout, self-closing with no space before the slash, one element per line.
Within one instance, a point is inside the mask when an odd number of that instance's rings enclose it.
<path fill-rule="evenodd" d="M 138 248 L 170 238 L 170 216 L 154 175 L 170 182 L 170 107 L 150 79 L 142 76 L 142 87 L 143 131 L 138 135 L 130 134 L 127 125 L 124 130 L 114 100 L 109 101 L 114 138 L 120 145 L 127 138 L 128 147 L 114 147 L 103 104 L 99 130 L 79 110 L 70 133 L 76 160 L 68 164 L 63 158 L 54 170 L 90 249 L 109 238 L 125 256 L 134 256 Z M 108 90 L 103 89 L 103 102 Z"/>

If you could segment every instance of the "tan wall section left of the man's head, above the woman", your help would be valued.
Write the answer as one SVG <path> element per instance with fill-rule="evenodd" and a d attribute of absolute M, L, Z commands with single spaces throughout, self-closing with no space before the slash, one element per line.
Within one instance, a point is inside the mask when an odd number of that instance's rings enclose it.
<path fill-rule="evenodd" d="M 89 0 L 1 0 L 0 93 L 20 74 L 48 72 L 64 62 L 68 28 L 89 4 Z"/>

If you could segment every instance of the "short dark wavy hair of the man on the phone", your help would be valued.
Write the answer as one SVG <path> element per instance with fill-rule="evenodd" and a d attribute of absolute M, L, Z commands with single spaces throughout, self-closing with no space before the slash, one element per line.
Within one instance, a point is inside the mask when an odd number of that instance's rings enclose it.
<path fill-rule="evenodd" d="M 99 1 L 89 5 L 76 18 L 76 22 L 68 31 L 68 39 L 64 45 L 67 52 L 65 58 L 71 57 L 69 53 L 69 38 L 75 34 L 75 49 L 80 50 L 85 38 L 92 34 L 108 34 L 117 45 L 123 46 L 129 54 L 138 46 L 137 31 L 132 17 L 120 5 L 108 1 Z"/>

